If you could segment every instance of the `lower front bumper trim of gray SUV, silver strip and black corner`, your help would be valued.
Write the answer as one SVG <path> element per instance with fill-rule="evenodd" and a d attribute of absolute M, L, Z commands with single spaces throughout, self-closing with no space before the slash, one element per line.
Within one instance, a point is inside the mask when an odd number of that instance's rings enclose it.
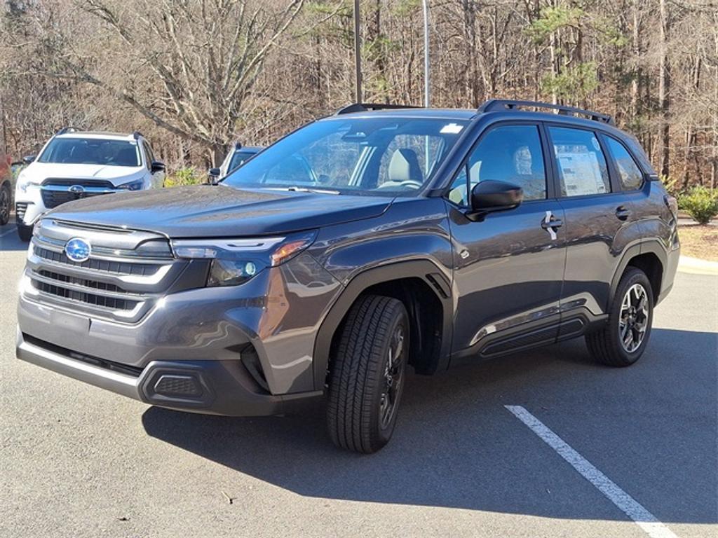
<path fill-rule="evenodd" d="M 170 409 L 230 416 L 279 415 L 316 405 L 322 391 L 271 395 L 240 362 L 152 361 L 143 369 L 83 356 L 17 331 L 17 357 L 123 396 Z"/>

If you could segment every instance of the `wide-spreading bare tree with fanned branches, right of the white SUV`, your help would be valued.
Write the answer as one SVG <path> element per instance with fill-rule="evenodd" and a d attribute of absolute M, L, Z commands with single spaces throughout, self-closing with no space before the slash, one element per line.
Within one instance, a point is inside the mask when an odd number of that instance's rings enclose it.
<path fill-rule="evenodd" d="M 82 9 L 104 23 L 126 58 L 108 70 L 77 55 L 66 67 L 158 126 L 210 147 L 218 164 L 269 52 L 303 4 L 84 0 Z"/>

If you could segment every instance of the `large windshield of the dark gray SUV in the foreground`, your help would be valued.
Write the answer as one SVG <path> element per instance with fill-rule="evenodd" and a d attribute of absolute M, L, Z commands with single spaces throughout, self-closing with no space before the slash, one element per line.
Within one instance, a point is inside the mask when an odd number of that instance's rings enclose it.
<path fill-rule="evenodd" d="M 246 162 L 232 187 L 411 194 L 431 179 L 465 121 L 346 118 L 310 123 Z"/>

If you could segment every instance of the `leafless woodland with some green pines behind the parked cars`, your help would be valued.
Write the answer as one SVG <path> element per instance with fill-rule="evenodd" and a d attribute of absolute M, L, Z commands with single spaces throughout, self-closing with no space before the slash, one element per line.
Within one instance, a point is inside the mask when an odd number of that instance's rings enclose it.
<path fill-rule="evenodd" d="M 717 0 L 433 0 L 432 105 L 615 116 L 679 186 L 718 181 Z M 62 126 L 142 131 L 217 163 L 353 101 L 353 2 L 4 0 L 0 121 L 21 156 Z M 422 104 L 420 0 L 361 2 L 364 100 Z"/>

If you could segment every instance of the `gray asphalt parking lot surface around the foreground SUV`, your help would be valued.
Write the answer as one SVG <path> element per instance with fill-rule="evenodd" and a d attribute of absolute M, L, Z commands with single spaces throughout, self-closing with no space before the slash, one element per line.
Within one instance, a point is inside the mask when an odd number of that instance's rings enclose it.
<path fill-rule="evenodd" d="M 357 456 L 321 416 L 171 412 L 17 361 L 26 245 L 11 225 L 0 242 L 0 537 L 718 534 L 716 276 L 677 275 L 628 369 L 579 340 L 410 377 L 391 443 Z M 663 525 L 631 521 L 505 406 Z"/>

